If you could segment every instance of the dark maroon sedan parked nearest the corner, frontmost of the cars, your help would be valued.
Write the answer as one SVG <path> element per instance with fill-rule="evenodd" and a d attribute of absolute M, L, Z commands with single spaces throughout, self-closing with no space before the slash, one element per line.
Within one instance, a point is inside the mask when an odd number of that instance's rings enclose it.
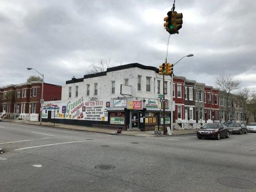
<path fill-rule="evenodd" d="M 221 137 L 229 138 L 228 127 L 222 123 L 207 123 L 203 128 L 196 133 L 198 139 L 215 138 L 219 140 Z"/>

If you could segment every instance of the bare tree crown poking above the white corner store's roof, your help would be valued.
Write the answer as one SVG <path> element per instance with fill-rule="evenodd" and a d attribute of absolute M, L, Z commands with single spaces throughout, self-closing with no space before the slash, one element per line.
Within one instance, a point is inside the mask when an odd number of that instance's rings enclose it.
<path fill-rule="evenodd" d="M 105 72 L 108 68 L 118 65 L 122 65 L 122 61 L 116 61 L 114 64 L 111 64 L 110 59 L 100 59 L 97 63 L 93 62 L 91 65 L 89 65 L 89 69 L 86 71 L 86 74 Z"/>

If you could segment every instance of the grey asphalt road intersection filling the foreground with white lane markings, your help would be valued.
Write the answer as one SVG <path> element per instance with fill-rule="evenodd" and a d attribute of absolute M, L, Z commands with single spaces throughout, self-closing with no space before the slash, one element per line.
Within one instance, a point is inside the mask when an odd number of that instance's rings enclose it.
<path fill-rule="evenodd" d="M 144 138 L 0 122 L 0 148 L 0 192 L 256 192 L 256 133 Z"/>

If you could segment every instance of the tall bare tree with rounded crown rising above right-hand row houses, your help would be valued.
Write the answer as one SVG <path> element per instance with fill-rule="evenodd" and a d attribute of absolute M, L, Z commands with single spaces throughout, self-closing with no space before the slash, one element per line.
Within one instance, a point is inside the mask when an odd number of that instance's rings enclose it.
<path fill-rule="evenodd" d="M 232 102 L 229 103 L 229 99 L 231 95 L 240 88 L 241 83 L 241 80 L 235 79 L 229 74 L 222 73 L 217 77 L 217 87 L 221 90 L 223 97 L 226 99 L 226 112 L 230 111 L 229 107 Z M 225 114 L 225 120 L 227 120 L 227 114 Z"/>

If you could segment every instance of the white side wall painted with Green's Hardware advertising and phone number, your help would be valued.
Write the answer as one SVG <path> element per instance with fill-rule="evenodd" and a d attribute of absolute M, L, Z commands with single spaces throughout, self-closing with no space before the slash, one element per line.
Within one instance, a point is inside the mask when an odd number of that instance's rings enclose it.
<path fill-rule="evenodd" d="M 48 118 L 48 110 L 51 110 L 54 117 L 54 107 L 52 105 L 57 104 L 59 108 L 55 108 L 55 119 L 108 121 L 107 103 L 109 101 L 106 102 L 100 99 L 85 101 L 83 96 L 71 100 L 49 101 L 45 102 L 43 106 L 44 114 L 42 118 Z"/>

